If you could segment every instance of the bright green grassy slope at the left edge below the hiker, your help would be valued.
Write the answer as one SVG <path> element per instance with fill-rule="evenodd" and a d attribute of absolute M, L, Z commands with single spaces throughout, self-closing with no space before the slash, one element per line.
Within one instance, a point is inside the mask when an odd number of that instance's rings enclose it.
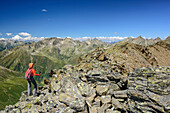
<path fill-rule="evenodd" d="M 23 74 L 0 66 L 0 110 L 19 101 L 21 92 L 26 88 Z"/>

